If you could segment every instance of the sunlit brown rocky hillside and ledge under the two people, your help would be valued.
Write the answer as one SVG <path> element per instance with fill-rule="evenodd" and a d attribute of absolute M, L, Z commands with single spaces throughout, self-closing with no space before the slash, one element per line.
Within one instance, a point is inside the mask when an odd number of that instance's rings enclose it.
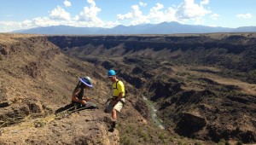
<path fill-rule="evenodd" d="M 0 144 L 201 142 L 170 136 L 151 123 L 147 105 L 125 80 L 132 99 L 119 114 L 117 130 L 109 132 L 110 115 L 103 113 L 111 97 L 107 69 L 63 54 L 45 36 L 0 34 L 0 38 Z M 78 78 L 86 75 L 96 86 L 88 96 L 99 108 L 55 113 L 67 107 Z"/>

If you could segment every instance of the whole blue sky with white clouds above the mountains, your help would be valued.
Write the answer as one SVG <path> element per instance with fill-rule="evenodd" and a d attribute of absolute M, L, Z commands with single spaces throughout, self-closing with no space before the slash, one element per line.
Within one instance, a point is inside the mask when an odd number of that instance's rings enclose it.
<path fill-rule="evenodd" d="M 256 0 L 0 0 L 0 32 L 38 26 L 256 26 Z"/>

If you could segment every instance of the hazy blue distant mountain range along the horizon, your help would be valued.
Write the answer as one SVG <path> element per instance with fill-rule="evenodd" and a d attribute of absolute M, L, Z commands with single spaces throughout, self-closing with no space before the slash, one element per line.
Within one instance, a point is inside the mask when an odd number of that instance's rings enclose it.
<path fill-rule="evenodd" d="M 238 28 L 183 25 L 177 22 L 162 22 L 160 24 L 144 24 L 137 26 L 102 27 L 74 27 L 74 26 L 46 26 L 26 30 L 19 33 L 37 34 L 174 34 L 174 33 L 208 33 L 208 32 L 256 32 L 256 26 L 243 26 Z"/>

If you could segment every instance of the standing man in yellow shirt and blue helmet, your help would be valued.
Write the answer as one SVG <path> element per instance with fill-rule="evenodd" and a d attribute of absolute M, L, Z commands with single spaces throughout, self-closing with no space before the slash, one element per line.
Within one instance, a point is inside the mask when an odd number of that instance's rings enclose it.
<path fill-rule="evenodd" d="M 113 131 L 117 121 L 117 111 L 120 112 L 125 103 L 125 85 L 122 81 L 116 78 L 116 73 L 114 70 L 108 71 L 108 78 L 111 80 L 113 97 L 111 102 L 109 102 L 108 107 L 105 109 L 105 113 L 112 113 L 112 125 L 109 131 Z"/>

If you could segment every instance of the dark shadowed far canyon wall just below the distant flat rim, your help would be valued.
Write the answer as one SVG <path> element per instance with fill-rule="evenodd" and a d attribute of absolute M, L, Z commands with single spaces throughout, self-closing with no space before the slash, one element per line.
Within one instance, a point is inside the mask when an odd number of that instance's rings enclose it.
<path fill-rule="evenodd" d="M 49 41 L 68 54 L 87 61 L 118 56 L 133 59 L 138 56 L 177 66 L 216 66 L 222 70 L 219 75 L 256 84 L 255 33 L 56 36 L 49 37 Z"/>

